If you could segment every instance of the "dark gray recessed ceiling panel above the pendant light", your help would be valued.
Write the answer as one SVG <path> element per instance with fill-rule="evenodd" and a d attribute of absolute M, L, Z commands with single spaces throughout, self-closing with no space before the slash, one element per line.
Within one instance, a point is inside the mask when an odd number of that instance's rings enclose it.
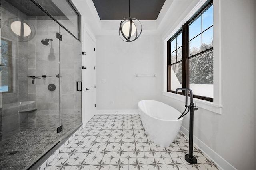
<path fill-rule="evenodd" d="M 100 20 L 122 20 L 129 16 L 128 0 L 92 0 Z M 130 0 L 130 17 L 156 20 L 165 0 Z"/>

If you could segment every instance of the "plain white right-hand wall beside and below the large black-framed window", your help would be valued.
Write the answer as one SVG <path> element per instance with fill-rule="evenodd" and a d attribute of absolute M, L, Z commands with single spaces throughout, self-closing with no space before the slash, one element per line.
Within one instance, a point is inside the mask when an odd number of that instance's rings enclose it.
<path fill-rule="evenodd" d="M 195 111 L 194 136 L 235 168 L 252 170 L 256 169 L 256 1 L 219 2 L 222 114 Z M 184 110 L 184 102 L 167 96 L 162 101 Z M 189 116 L 182 126 L 189 129 Z"/>

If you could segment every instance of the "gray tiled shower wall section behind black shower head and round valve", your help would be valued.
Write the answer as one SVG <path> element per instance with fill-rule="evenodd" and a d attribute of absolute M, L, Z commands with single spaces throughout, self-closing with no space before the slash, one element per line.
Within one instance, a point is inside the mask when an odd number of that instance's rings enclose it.
<path fill-rule="evenodd" d="M 44 16 L 46 17 L 46 16 Z M 38 18 L 38 17 L 37 17 Z M 36 37 L 33 39 L 34 52 L 30 56 L 28 64 L 29 74 L 41 76 L 32 84 L 28 80 L 28 95 L 30 100 L 36 101 L 36 126 L 37 127 L 58 127 L 59 125 L 59 41 L 56 39 L 56 32 L 59 31 L 59 25 L 50 20 L 49 17 L 38 18 L 34 21 Z M 41 40 L 53 39 L 49 45 L 43 45 Z M 52 45 L 52 48 L 51 48 Z M 46 78 L 42 78 L 46 75 Z M 48 90 L 49 84 L 55 84 L 54 91 Z"/>

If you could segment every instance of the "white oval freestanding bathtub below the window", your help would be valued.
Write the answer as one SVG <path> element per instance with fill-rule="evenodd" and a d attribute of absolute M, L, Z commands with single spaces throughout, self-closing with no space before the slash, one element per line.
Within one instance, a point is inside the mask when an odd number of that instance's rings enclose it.
<path fill-rule="evenodd" d="M 183 120 L 181 113 L 173 107 L 155 100 L 138 102 L 140 119 L 148 137 L 160 147 L 168 147 L 178 131 Z"/>

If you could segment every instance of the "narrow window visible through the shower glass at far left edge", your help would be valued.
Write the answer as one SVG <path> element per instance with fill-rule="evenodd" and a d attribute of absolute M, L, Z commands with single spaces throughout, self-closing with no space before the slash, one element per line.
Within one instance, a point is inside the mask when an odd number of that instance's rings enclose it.
<path fill-rule="evenodd" d="M 12 42 L 1 39 L 1 92 L 12 92 Z"/>

